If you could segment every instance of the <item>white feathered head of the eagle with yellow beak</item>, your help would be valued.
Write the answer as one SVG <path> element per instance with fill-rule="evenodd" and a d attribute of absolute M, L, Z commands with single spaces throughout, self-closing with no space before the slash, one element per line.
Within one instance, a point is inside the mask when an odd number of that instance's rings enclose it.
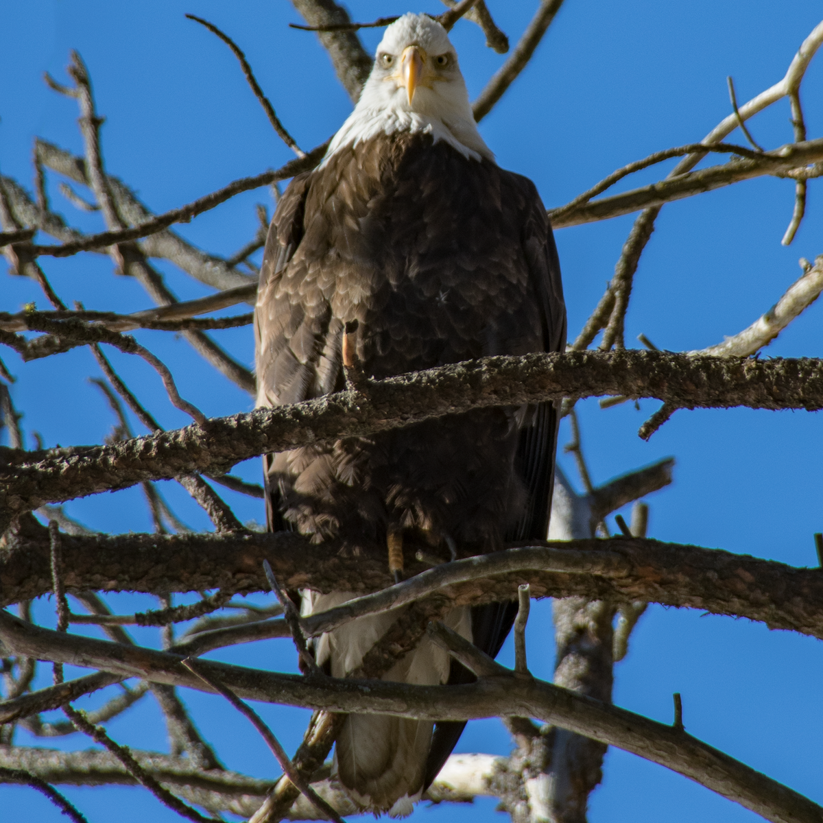
<path fill-rule="evenodd" d="M 425 14 L 405 14 L 388 26 L 360 100 L 327 157 L 381 132 L 431 134 L 472 160 L 494 161 L 477 131 L 458 54 L 444 27 Z"/>

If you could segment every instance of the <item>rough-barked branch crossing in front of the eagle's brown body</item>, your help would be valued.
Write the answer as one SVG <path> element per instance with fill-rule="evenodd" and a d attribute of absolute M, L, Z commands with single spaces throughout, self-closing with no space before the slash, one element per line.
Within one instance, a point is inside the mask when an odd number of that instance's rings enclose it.
<path fill-rule="evenodd" d="M 103 330 L 95 334 L 102 339 Z M 0 332 L 0 342 L 23 351 L 29 345 L 9 332 Z M 653 397 L 688 408 L 811 411 L 823 407 L 823 365 L 805 358 L 740 360 L 660 351 L 490 357 L 373 381 L 367 396 L 342 392 L 214 418 L 205 428 L 191 425 L 103 446 L 0 451 L 0 511 L 5 514 L 4 521 L 0 515 L 0 528 L 16 514 L 44 503 L 144 480 L 219 474 L 264 452 L 371 434 L 475 407 L 604 394 Z"/>

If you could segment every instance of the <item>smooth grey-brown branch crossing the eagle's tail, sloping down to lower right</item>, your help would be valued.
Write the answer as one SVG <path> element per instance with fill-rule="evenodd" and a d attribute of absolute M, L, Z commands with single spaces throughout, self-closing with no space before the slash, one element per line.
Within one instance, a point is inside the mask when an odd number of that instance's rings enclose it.
<path fill-rule="evenodd" d="M 181 658 L 153 649 L 67 637 L 0 612 L 0 638 L 15 653 L 114 670 L 129 677 L 206 690 Z M 484 677 L 467 686 L 409 686 L 275 674 L 200 661 L 209 677 L 246 700 L 286 702 L 345 713 L 393 714 L 431 720 L 526 715 L 593 737 L 664 765 L 775 823 L 819 823 L 823 810 L 807 797 L 700 742 L 681 729 L 655 723 L 534 678 Z"/>

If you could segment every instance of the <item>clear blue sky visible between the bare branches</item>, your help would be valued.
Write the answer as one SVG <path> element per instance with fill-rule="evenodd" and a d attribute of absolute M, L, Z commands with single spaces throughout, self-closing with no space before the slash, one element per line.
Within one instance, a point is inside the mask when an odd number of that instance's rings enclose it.
<path fill-rule="evenodd" d="M 489 0 L 514 42 L 536 2 Z M 369 20 L 410 7 L 351 2 L 352 16 Z M 412 11 L 439 11 L 435 0 Z M 79 153 L 77 110 L 55 95 L 41 75 L 65 80 L 69 49 L 90 69 L 111 174 L 126 181 L 156 212 L 179 206 L 230 180 L 275 168 L 291 159 L 267 123 L 228 49 L 185 12 L 215 22 L 240 44 L 284 123 L 304 148 L 323 142 L 351 110 L 328 57 L 314 35 L 291 30 L 299 21 L 286 0 L 275 2 L 105 3 L 100 0 L 0 2 L 0 170 L 30 188 L 30 146 L 37 135 Z M 700 140 L 729 111 L 726 77 L 738 100 L 748 100 L 783 77 L 797 47 L 820 20 L 812 0 L 566 0 L 546 40 L 522 77 L 483 123 L 481 132 L 501 165 L 534 179 L 547 207 L 567 202 L 630 160 L 669 146 Z M 366 32 L 373 48 L 379 33 Z M 453 31 L 472 96 L 503 57 L 483 45 L 477 27 Z M 811 64 L 803 87 L 810 137 L 821 134 L 823 58 Z M 765 146 L 792 139 L 788 104 L 782 101 L 751 120 Z M 742 142 L 739 132 L 729 138 Z M 625 181 L 651 182 L 671 165 Z M 99 230 L 100 218 L 77 212 L 58 193 L 54 207 L 83 230 Z M 807 218 L 794 243 L 780 245 L 793 205 L 787 180 L 756 179 L 663 209 L 635 279 L 626 340 L 640 332 L 661 348 L 708 346 L 751 323 L 800 274 L 797 258 L 823 253 L 818 186 L 811 181 Z M 271 211 L 266 189 L 246 193 L 179 231 L 221 254 L 239 249 L 257 226 L 255 203 Z M 611 277 L 631 216 L 556 234 L 562 262 L 570 334 L 575 335 Z M 158 264 L 180 298 L 209 290 L 165 263 Z M 140 287 L 114 276 L 107 258 L 87 255 L 47 260 L 45 270 L 64 300 L 89 309 L 148 308 Z M 36 300 L 30 281 L 2 277 L 0 310 Z M 793 324 L 767 356 L 823 356 L 823 302 Z M 216 332 L 240 360 L 251 363 L 250 329 Z M 251 403 L 233 384 L 201 365 L 188 345 L 162 332 L 142 340 L 174 371 L 180 392 L 210 415 L 245 411 Z M 639 344 L 638 344 L 639 345 Z M 111 421 L 88 376 L 98 376 L 91 355 L 74 350 L 25 367 L 4 351 L 18 376 L 12 391 L 25 413 L 26 432 L 46 445 L 99 443 Z M 168 427 L 187 421 L 165 398 L 160 381 L 142 362 L 113 355 L 117 368 Z M 54 398 L 60 398 L 55 407 Z M 677 458 L 675 482 L 649 498 L 650 536 L 728 551 L 815 565 L 812 533 L 823 531 L 823 434 L 821 419 L 807 412 L 677 412 L 649 443 L 636 436 L 658 406 L 646 401 L 602 411 L 580 405 L 584 449 L 595 483 L 654 460 Z M 568 439 L 561 430 L 560 441 Z M 565 458 L 561 458 L 565 461 Z M 238 467 L 259 477 L 258 461 Z M 576 478 L 569 465 L 570 477 Z M 181 518 L 208 528 L 199 509 L 174 484 L 161 484 Z M 244 519 L 264 519 L 259 501 L 226 493 Z M 67 511 L 92 528 L 125 532 L 151 529 L 139 491 L 72 501 Z M 111 598 L 118 610 L 149 606 L 146 597 Z M 45 622 L 49 602 L 36 606 Z M 551 677 L 551 604 L 540 602 L 529 625 L 530 663 Z M 142 635 L 155 642 L 149 630 Z M 823 802 L 823 722 L 817 699 L 823 678 L 818 641 L 763 625 L 697 611 L 651 607 L 632 637 L 630 653 L 616 667 L 615 702 L 663 722 L 672 719 L 672 692 L 683 695 L 686 728 L 713 746 Z M 294 668 L 291 648 L 270 641 L 215 655 L 230 662 Z M 512 657 L 507 646 L 504 663 Z M 46 679 L 43 672 L 42 677 Z M 263 742 L 244 720 L 216 698 L 186 695 L 206 736 L 230 768 L 260 777 L 275 772 Z M 91 704 L 91 703 L 90 703 Z M 306 713 L 262 707 L 284 744 L 300 740 Z M 114 737 L 137 748 L 165 751 L 160 714 L 150 699 L 110 724 Z M 28 741 L 25 734 L 18 742 Z M 52 745 L 49 742 L 49 745 Z M 86 746 L 79 736 L 53 743 Z M 509 741 L 496 721 L 470 723 L 459 751 L 505 753 Z M 590 820 L 753 821 L 756 816 L 662 767 L 610 750 L 602 786 L 593 793 Z M 72 789 L 66 793 L 89 817 L 103 821 L 177 819 L 146 792 L 131 788 Z M 492 820 L 495 802 L 475 807 L 419 808 L 416 818 Z M 0 819 L 62 819 L 29 789 L 0 787 Z M 501 818 L 502 819 L 502 818 Z"/>

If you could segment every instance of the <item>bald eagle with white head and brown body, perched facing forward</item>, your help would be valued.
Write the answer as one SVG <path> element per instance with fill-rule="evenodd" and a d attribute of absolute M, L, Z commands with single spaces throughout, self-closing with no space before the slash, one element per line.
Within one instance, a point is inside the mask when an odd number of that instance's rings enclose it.
<path fill-rule="evenodd" d="M 407 14 L 385 32 L 351 117 L 322 163 L 291 181 L 268 232 L 255 309 L 258 406 L 345 388 L 344 360 L 382 379 L 491 355 L 562 351 L 565 306 L 551 226 L 532 182 L 504 171 L 472 117 L 449 36 Z M 351 365 L 346 364 L 346 365 Z M 447 562 L 546 537 L 557 435 L 551 403 L 483 409 L 264 458 L 268 528 L 385 557 Z M 305 613 L 354 597 L 304 593 Z M 398 618 L 323 635 L 346 677 Z M 495 655 L 514 604 L 447 622 Z M 466 682 L 428 639 L 386 680 Z M 464 723 L 350 715 L 337 778 L 360 807 L 402 816 Z"/>

